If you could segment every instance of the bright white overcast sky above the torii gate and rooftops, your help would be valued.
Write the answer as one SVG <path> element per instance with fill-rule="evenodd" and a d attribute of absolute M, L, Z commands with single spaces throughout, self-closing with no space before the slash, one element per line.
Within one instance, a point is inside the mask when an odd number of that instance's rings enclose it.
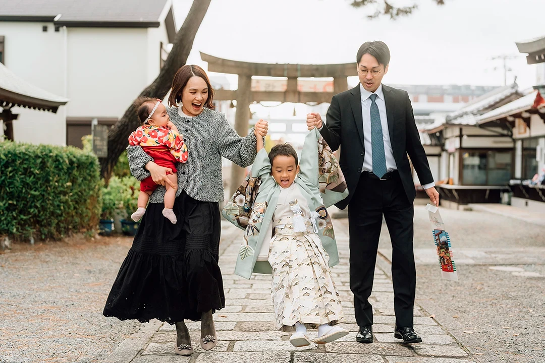
<path fill-rule="evenodd" d="M 407 3 L 407 0 L 396 0 Z M 368 9 L 350 0 L 212 0 L 188 63 L 206 66 L 199 51 L 262 63 L 355 62 L 359 46 L 383 40 L 390 47 L 388 84 L 534 85 L 536 66 L 527 65 L 515 41 L 545 35 L 541 0 L 414 0 L 419 9 L 397 21 L 368 20 Z M 174 0 L 178 25 L 191 0 Z M 495 70 L 494 70 L 495 69 Z M 234 80 L 236 88 L 236 77 Z"/>

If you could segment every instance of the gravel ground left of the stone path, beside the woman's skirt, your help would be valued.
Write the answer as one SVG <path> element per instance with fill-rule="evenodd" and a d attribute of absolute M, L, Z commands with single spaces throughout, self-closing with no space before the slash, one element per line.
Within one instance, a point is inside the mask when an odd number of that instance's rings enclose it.
<path fill-rule="evenodd" d="M 102 316 L 131 243 L 80 238 L 0 254 L 0 362 L 99 362 L 140 329 Z"/>

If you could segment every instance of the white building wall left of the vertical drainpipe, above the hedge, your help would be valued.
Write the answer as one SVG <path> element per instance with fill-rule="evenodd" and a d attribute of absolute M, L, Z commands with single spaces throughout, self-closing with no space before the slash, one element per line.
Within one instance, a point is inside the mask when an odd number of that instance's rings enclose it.
<path fill-rule="evenodd" d="M 47 32 L 42 27 L 47 26 Z M 64 93 L 64 29 L 53 23 L 0 22 L 5 36 L 5 66 L 17 76 L 58 96 Z M 33 144 L 66 143 L 65 107 L 56 114 L 14 107 L 19 119 L 13 122 L 16 141 Z"/>

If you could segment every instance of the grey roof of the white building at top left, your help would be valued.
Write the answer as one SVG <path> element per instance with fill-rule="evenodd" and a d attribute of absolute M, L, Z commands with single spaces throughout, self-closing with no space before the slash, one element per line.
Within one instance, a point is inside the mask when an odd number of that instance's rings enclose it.
<path fill-rule="evenodd" d="M 53 17 L 64 22 L 158 22 L 168 0 L 0 0 L 0 17 Z"/>

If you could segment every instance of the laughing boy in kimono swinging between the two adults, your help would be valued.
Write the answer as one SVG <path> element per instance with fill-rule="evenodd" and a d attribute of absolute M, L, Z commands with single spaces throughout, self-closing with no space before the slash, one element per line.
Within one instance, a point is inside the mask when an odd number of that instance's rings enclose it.
<path fill-rule="evenodd" d="M 223 209 L 245 229 L 235 273 L 272 274 L 277 328 L 295 325 L 289 340 L 295 347 L 310 345 L 307 327 L 318 327 L 314 343 L 337 340 L 348 331 L 335 326 L 344 314 L 330 273 L 338 253 L 326 206 L 348 195 L 344 177 L 316 129 L 305 138 L 300 164 L 293 146 L 276 145 L 267 154 L 256 136 L 250 175 Z"/>

